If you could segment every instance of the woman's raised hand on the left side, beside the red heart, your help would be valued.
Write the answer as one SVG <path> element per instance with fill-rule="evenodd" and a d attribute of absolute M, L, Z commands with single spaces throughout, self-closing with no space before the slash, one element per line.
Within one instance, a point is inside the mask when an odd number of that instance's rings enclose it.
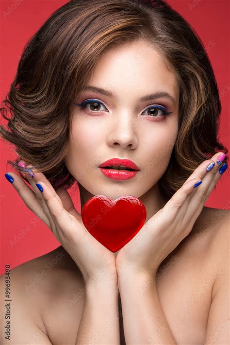
<path fill-rule="evenodd" d="M 20 163 L 26 166 L 25 162 Z M 32 178 L 28 172 L 25 173 L 33 190 L 18 174 L 9 172 L 14 178 L 14 188 L 76 262 L 85 284 L 93 284 L 98 279 L 116 283 L 115 254 L 87 231 L 67 190 L 62 188 L 56 192 L 43 173 L 36 172 L 30 165 L 26 167 L 31 168 L 34 174 Z M 43 191 L 36 183 L 42 186 Z"/>

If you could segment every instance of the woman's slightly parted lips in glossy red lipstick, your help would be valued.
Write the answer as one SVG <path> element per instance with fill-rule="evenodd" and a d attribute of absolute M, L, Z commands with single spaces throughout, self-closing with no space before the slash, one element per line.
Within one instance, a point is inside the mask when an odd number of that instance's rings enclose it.
<path fill-rule="evenodd" d="M 101 173 L 113 180 L 128 180 L 139 171 L 138 166 L 130 159 L 119 158 L 106 160 L 99 168 Z"/>

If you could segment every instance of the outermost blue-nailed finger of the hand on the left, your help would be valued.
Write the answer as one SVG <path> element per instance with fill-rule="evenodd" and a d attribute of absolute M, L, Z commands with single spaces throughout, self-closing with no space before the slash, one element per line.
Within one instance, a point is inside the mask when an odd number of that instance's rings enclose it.
<path fill-rule="evenodd" d="M 40 203 L 38 202 L 35 193 L 31 188 L 23 181 L 23 179 L 16 173 L 9 172 L 14 181 L 12 183 L 13 187 L 17 191 L 17 193 L 22 198 L 24 204 L 33 212 L 35 213 L 38 218 L 40 218 L 45 224 L 50 226 L 49 219 L 44 212 L 43 208 L 41 207 Z"/>

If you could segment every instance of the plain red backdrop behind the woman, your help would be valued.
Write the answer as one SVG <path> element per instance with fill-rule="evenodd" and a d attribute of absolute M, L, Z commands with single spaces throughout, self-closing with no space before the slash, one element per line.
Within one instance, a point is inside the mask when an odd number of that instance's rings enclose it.
<path fill-rule="evenodd" d="M 0 61 L 0 101 L 16 74 L 23 47 L 49 15 L 65 4 L 66 0 L 1 0 L 0 31 L 2 52 Z M 230 45 L 229 0 L 168 0 L 196 30 L 211 59 L 222 103 L 220 141 L 229 149 L 229 97 L 230 97 Z M 5 123 L 0 120 L 1 123 Z M 0 140 L 0 275 L 5 264 L 11 268 L 37 258 L 60 246 L 45 225 L 24 204 L 4 174 L 12 171 L 7 159 L 16 154 L 6 142 Z M 217 188 L 205 206 L 230 208 L 228 171 L 223 174 Z M 75 207 L 80 212 L 79 191 L 71 192 Z"/>

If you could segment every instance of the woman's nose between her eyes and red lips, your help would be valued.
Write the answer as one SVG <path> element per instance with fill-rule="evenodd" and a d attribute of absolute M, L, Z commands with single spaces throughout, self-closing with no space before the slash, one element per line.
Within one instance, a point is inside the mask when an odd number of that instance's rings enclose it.
<path fill-rule="evenodd" d="M 135 149 L 138 145 L 135 121 L 132 114 L 120 113 L 113 117 L 107 144 L 111 147 L 120 146 L 122 149 Z"/>

